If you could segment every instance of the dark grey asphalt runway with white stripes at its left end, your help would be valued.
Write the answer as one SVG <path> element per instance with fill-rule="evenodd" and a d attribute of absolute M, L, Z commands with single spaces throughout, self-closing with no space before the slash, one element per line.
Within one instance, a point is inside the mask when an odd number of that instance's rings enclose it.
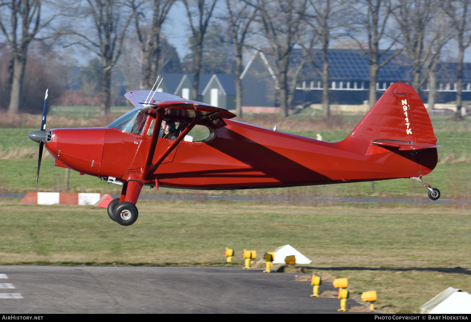
<path fill-rule="evenodd" d="M 294 275 L 239 267 L 0 266 L 0 312 L 338 313 L 340 300 L 310 298 L 310 282 Z M 332 283 L 324 290 L 334 290 Z M 348 299 L 348 306 L 358 304 Z"/>

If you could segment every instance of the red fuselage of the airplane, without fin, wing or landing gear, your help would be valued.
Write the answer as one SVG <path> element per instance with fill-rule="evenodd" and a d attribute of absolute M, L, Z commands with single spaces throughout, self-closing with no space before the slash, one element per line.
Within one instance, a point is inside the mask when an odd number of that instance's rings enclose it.
<path fill-rule="evenodd" d="M 145 133 L 152 119 L 146 121 L 143 135 L 114 128 L 53 129 L 46 148 L 57 165 L 125 181 L 142 171 L 150 143 Z M 375 147 L 384 151 L 367 153 L 371 143 L 351 136 L 328 143 L 224 121 L 227 126 L 213 129 L 207 142 L 180 142 L 152 179 L 175 188 L 247 189 L 418 177 L 436 164 L 436 149 L 429 149 L 421 162 L 414 151 Z M 158 139 L 153 161 L 171 142 Z"/>

